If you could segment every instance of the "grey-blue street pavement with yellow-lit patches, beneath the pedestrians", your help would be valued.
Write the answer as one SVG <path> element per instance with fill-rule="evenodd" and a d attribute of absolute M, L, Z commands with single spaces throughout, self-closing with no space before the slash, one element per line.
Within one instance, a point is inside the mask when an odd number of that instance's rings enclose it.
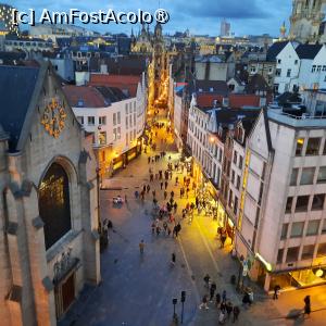
<path fill-rule="evenodd" d="M 105 180 L 101 191 L 101 217 L 113 222 L 110 231 L 110 246 L 101 254 L 102 283 L 97 288 L 86 287 L 79 300 L 66 317 L 60 323 L 65 325 L 130 325 L 130 326 L 166 326 L 172 322 L 172 299 L 177 298 L 176 313 L 180 319 L 180 292 L 185 290 L 187 298 L 184 311 L 184 325 L 211 326 L 217 325 L 218 312 L 213 303 L 209 310 L 199 310 L 199 303 L 206 290 L 203 286 L 203 276 L 208 273 L 217 285 L 217 292 L 226 290 L 227 298 L 240 306 L 238 325 L 325 325 L 316 324 L 317 315 L 313 313 L 310 319 L 286 319 L 285 316 L 292 309 L 302 308 L 303 297 L 293 296 L 293 292 L 283 293 L 278 301 L 271 300 L 259 287 L 251 284 L 254 290 L 254 303 L 244 309 L 241 305 L 241 296 L 230 284 L 230 275 L 237 275 L 239 266 L 230 256 L 230 244 L 220 249 L 216 238 L 217 223 L 204 215 L 196 215 L 192 223 L 180 221 L 180 211 L 189 200 L 179 198 L 179 186 L 173 178 L 168 185 L 168 192 L 174 190 L 178 203 L 176 220 L 181 223 L 180 236 L 175 239 L 164 235 L 155 236 L 151 233 L 152 189 L 156 191 L 159 203 L 163 203 L 163 190 L 160 190 L 159 180 L 149 181 L 149 167 L 158 172 L 166 168 L 167 158 L 178 159 L 173 140 L 166 133 L 159 133 L 160 139 L 168 150 L 166 158 L 158 163 L 148 164 L 148 155 L 141 154 L 130 162 L 127 168 L 117 173 L 112 179 Z M 151 190 L 142 204 L 134 197 L 135 190 L 150 184 Z M 121 208 L 113 206 L 112 197 L 127 195 L 128 202 Z M 145 253 L 139 253 L 139 241 L 145 240 Z M 170 263 L 172 252 L 176 253 L 176 265 Z M 302 292 L 303 294 L 303 292 Z M 286 298 L 290 298 L 287 300 Z M 313 302 L 313 301 L 312 301 Z M 321 305 L 318 309 L 322 309 Z M 314 316 L 315 314 L 315 316 Z M 299 324 L 298 324 L 299 323 Z M 230 321 L 225 323 L 231 325 Z"/>

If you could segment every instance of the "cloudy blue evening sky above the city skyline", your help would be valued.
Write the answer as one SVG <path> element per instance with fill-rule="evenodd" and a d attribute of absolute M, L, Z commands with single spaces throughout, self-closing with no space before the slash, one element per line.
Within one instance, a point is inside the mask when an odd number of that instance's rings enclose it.
<path fill-rule="evenodd" d="M 36 12 L 42 9 L 51 11 L 67 11 L 71 8 L 80 11 L 106 11 L 109 8 L 116 11 L 136 11 L 141 9 L 153 13 L 163 8 L 170 13 L 171 20 L 164 26 L 164 33 L 185 30 L 191 34 L 220 34 L 220 24 L 226 18 L 231 24 L 231 32 L 236 35 L 260 35 L 269 33 L 279 35 L 279 26 L 291 13 L 292 0 L 2 0 L 26 11 L 30 8 Z M 33 3 L 33 4 L 32 4 Z M 98 32 L 130 33 L 133 25 L 87 25 L 89 29 Z M 138 27 L 134 30 L 138 29 Z"/>

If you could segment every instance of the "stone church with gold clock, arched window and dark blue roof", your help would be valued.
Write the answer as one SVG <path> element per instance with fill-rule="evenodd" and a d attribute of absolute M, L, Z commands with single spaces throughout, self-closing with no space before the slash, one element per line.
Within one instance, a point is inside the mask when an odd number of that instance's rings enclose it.
<path fill-rule="evenodd" d="M 1 325 L 57 325 L 100 281 L 91 141 L 49 63 L 0 66 Z"/>

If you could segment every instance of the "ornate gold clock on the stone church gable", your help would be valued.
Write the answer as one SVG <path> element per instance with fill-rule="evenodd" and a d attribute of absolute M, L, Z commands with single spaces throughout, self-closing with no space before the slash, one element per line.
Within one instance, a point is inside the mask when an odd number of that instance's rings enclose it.
<path fill-rule="evenodd" d="M 58 138 L 62 129 L 64 128 L 64 121 L 66 113 L 57 99 L 52 99 L 45 109 L 41 124 L 48 134 L 54 138 Z"/>

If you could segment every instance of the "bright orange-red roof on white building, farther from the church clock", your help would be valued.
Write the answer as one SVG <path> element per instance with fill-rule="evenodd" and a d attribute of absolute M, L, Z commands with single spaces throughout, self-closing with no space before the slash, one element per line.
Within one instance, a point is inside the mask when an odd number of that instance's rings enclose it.
<path fill-rule="evenodd" d="M 136 97 L 139 82 L 140 76 L 91 74 L 89 85 L 117 87 L 121 90 L 128 89 L 130 97 Z"/>

